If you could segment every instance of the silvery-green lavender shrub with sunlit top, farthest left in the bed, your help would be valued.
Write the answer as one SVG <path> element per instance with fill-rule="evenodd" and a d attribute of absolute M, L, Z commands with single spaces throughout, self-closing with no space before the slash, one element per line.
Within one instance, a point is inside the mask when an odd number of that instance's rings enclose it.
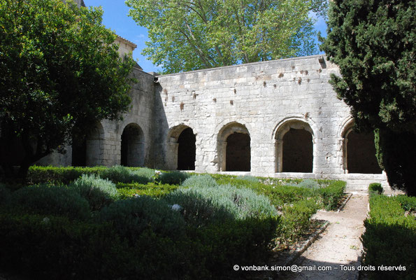
<path fill-rule="evenodd" d="M 80 179 L 73 181 L 69 188 L 76 190 L 81 197 L 84 197 L 89 202 L 92 211 L 101 209 L 118 197 L 115 183 L 96 175 L 83 175 Z"/>

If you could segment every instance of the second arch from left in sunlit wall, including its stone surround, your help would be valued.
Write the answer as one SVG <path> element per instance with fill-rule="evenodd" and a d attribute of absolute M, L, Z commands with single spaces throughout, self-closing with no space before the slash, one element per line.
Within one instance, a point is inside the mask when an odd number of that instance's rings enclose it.
<path fill-rule="evenodd" d="M 251 169 L 250 133 L 241 123 L 224 125 L 217 138 L 219 171 L 245 171 Z"/>

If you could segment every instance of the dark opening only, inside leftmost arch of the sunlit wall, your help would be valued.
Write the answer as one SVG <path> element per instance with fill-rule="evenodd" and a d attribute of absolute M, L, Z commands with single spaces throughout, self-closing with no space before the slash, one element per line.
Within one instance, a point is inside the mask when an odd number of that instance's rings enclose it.
<path fill-rule="evenodd" d="M 195 170 L 196 137 L 192 128 L 187 127 L 178 137 L 178 170 Z"/>

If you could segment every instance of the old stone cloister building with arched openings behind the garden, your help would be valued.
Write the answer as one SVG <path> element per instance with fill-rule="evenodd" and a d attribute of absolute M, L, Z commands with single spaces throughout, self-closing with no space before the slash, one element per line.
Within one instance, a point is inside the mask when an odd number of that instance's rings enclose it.
<path fill-rule="evenodd" d="M 136 48 L 121 37 L 115 43 L 121 54 Z M 352 130 L 331 73 L 338 67 L 322 55 L 163 76 L 137 65 L 124 120 L 97 123 L 85 143 L 39 163 L 342 179 L 350 190 L 388 186 L 373 135 Z"/>

